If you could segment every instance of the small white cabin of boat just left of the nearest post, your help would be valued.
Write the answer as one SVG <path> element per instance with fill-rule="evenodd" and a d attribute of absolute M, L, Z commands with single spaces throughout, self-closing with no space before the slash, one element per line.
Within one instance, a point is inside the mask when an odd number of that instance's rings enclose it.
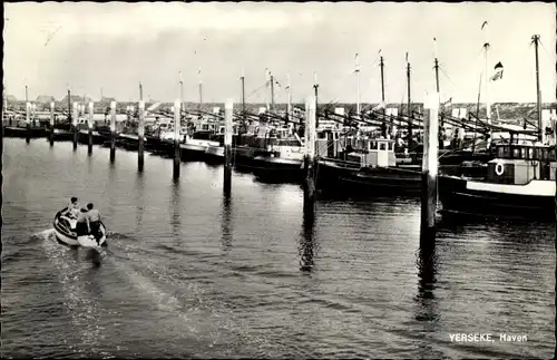
<path fill-rule="evenodd" d="M 394 140 L 387 138 L 358 139 L 356 150 L 348 154 L 348 160 L 362 167 L 390 167 L 397 165 Z"/>

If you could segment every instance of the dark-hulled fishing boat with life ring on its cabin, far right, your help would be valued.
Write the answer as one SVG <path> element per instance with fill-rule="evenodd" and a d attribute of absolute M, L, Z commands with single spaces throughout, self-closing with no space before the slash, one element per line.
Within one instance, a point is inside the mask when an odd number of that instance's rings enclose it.
<path fill-rule="evenodd" d="M 499 144 L 483 179 L 440 175 L 444 213 L 555 220 L 555 146 Z"/>

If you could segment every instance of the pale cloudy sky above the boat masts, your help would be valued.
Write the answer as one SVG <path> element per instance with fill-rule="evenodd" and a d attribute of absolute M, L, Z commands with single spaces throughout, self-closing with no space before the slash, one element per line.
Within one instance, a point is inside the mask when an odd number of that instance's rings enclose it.
<path fill-rule="evenodd" d="M 543 101 L 555 101 L 555 3 L 418 2 L 19 2 L 4 7 L 6 93 L 25 99 L 72 94 L 198 101 L 265 103 L 265 69 L 280 85 L 275 101 L 313 93 L 320 103 L 381 100 L 379 53 L 384 59 L 385 100 L 407 101 L 405 53 L 411 64 L 412 101 L 436 90 L 433 59 L 440 64 L 442 99 L 476 103 L 486 68 L 501 61 L 504 77 L 489 86 L 491 103 L 536 101 L 535 51 L 539 47 Z M 481 29 L 483 21 L 488 26 Z M 199 74 L 201 72 L 201 74 Z M 485 80 L 481 97 L 485 101 Z"/>

